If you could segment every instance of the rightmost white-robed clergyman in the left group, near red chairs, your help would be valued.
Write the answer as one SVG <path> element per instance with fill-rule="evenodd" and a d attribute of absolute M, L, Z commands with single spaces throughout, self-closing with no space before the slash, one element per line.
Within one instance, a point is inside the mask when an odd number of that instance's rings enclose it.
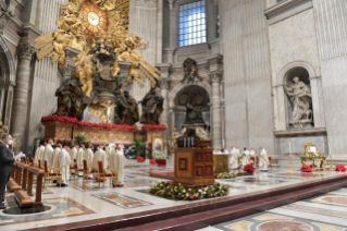
<path fill-rule="evenodd" d="M 124 186 L 124 168 L 126 158 L 124 153 L 122 151 L 122 146 L 117 146 L 116 150 L 114 147 L 110 148 L 110 169 L 114 170 L 114 174 L 116 175 L 116 181 L 113 182 L 113 186 L 123 187 Z"/>

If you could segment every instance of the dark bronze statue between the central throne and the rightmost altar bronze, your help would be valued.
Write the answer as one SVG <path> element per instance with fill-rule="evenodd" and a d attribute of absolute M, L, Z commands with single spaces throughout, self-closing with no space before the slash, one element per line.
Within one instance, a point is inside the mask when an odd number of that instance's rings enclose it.
<path fill-rule="evenodd" d="M 134 125 L 139 120 L 137 102 L 128 92 L 124 92 L 124 97 L 128 106 L 123 104 L 117 106 L 117 117 L 122 117 L 120 123 Z"/>

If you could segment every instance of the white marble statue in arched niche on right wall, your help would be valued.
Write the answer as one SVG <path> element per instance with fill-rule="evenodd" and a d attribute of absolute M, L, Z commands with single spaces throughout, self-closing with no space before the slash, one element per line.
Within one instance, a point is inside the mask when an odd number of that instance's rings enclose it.
<path fill-rule="evenodd" d="M 290 123 L 294 127 L 302 129 L 306 124 L 312 123 L 312 95 L 310 88 L 296 76 L 293 78 L 293 85 L 284 86 L 284 90 L 293 105 Z"/>

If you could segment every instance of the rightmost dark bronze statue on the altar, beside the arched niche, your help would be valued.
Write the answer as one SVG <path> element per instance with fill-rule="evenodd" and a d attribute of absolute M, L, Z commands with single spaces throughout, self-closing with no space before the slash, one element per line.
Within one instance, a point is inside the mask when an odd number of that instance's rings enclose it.
<path fill-rule="evenodd" d="M 159 124 L 159 118 L 163 112 L 164 98 L 156 93 L 152 87 L 145 98 L 140 101 L 142 114 L 140 122 L 144 124 Z"/>

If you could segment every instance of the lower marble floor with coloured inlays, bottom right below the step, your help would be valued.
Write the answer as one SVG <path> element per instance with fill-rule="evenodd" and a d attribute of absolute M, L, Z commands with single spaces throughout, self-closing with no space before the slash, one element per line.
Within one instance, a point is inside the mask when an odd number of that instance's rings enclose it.
<path fill-rule="evenodd" d="M 197 231 L 347 231 L 347 187 Z"/>

